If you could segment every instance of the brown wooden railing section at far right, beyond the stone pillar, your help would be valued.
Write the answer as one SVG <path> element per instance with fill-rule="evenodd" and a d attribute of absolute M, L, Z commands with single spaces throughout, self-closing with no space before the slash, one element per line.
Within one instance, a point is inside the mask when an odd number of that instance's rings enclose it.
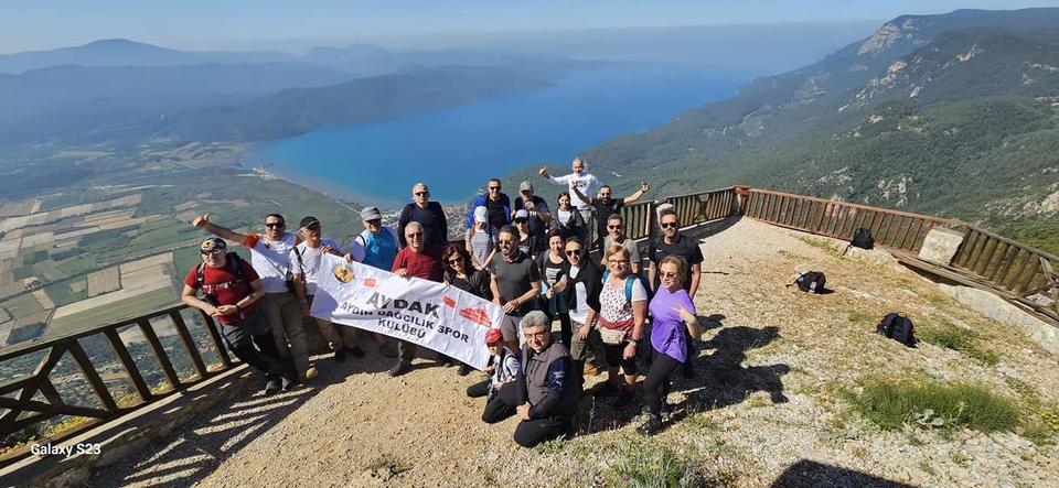
<path fill-rule="evenodd" d="M 1048 307 L 1029 300 L 1051 291 L 1053 269 L 1059 265 L 1056 256 L 967 225 L 952 265 L 1007 292 L 1008 299 L 1059 319 L 1059 303 Z"/>

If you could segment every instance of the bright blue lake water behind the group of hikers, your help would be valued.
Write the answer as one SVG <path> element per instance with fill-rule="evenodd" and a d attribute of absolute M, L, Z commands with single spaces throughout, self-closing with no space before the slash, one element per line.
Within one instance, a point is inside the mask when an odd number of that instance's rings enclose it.
<path fill-rule="evenodd" d="M 580 69 L 541 90 L 255 144 L 247 163 L 359 203 L 403 204 L 416 182 L 432 199 L 463 202 L 515 167 L 565 174 L 578 152 L 731 97 L 746 82 L 695 66 Z M 516 183 L 504 183 L 514 194 Z"/>

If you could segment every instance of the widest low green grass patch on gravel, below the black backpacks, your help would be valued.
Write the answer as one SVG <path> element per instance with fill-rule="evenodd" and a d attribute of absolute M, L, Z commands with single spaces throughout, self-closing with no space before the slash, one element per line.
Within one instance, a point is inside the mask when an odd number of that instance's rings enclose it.
<path fill-rule="evenodd" d="M 1018 425 L 1019 404 L 972 383 L 921 380 L 873 380 L 847 400 L 882 429 L 903 424 L 924 427 L 967 427 L 982 432 L 1012 431 Z"/>

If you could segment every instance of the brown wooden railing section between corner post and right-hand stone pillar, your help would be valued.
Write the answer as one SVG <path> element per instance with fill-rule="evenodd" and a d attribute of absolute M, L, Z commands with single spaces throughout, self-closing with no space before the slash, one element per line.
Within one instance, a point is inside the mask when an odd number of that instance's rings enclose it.
<path fill-rule="evenodd" d="M 758 188 L 749 188 L 742 213 L 780 227 L 842 240 L 853 239 L 863 227 L 871 231 L 877 246 L 911 252 L 919 251 L 934 225 L 964 225 L 929 215 Z"/>

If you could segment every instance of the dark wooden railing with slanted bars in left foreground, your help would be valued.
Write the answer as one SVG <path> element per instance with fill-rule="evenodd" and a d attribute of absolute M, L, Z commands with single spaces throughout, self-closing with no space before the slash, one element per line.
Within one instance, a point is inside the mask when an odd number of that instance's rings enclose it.
<path fill-rule="evenodd" d="M 202 334 L 200 334 L 200 341 L 206 343 L 206 347 L 200 347 L 200 345 L 196 344 L 195 338 L 191 334 L 191 329 L 181 314 L 184 310 L 192 311 L 191 313 L 202 317 L 202 324 L 205 325 L 204 335 L 208 337 L 208 339 L 202 338 Z M 160 322 L 165 322 L 167 319 L 175 329 L 175 335 L 180 339 L 179 344 L 182 345 L 183 354 L 185 355 L 183 357 L 176 358 L 171 356 L 172 353 L 167 351 L 162 341 L 159 339 L 156 327 L 160 325 Z M 162 381 L 158 386 L 161 388 L 152 390 L 146 379 L 147 371 L 145 371 L 145 369 L 151 369 L 150 365 L 148 365 L 147 368 L 141 368 L 137 365 L 133 355 L 130 354 L 129 344 L 122 338 L 122 335 L 129 334 L 129 329 L 137 330 L 150 349 L 150 356 L 153 357 L 156 366 L 161 370 Z M 128 381 L 131 382 L 131 394 L 127 394 L 124 398 L 118 397 L 116 400 L 115 392 L 108 388 L 99 369 L 99 362 L 108 355 L 96 351 L 96 357 L 90 358 L 85 351 L 86 348 L 83 344 L 98 344 L 97 341 L 100 339 L 109 344 L 109 349 L 114 353 L 114 357 L 117 358 L 120 370 L 124 371 Z M 55 371 L 61 360 L 66 357 L 67 353 L 68 357 L 76 364 L 81 379 L 87 382 L 88 388 L 92 390 L 92 394 L 98 402 L 97 405 L 73 404 L 64 400 L 64 395 L 60 394 L 51 375 Z M 203 359 L 206 353 L 211 353 L 211 356 L 216 358 L 208 368 Z M 11 434 L 39 426 L 39 424 L 44 422 L 54 422 L 54 420 L 60 416 L 81 417 L 79 420 L 87 419 L 87 421 L 84 422 L 73 422 L 72 424 L 75 424 L 76 427 L 58 430 L 47 440 L 60 441 L 67 438 L 99 422 L 122 415 L 146 404 L 161 400 L 173 392 L 203 381 L 233 366 L 233 360 L 223 347 L 221 334 L 213 318 L 201 311 L 189 308 L 184 305 L 173 306 L 45 343 L 17 348 L 0 354 L 0 365 L 4 365 L 3 372 L 7 376 L 12 372 L 13 367 L 11 362 L 18 360 L 24 361 L 41 355 L 43 356 L 36 361 L 35 366 L 31 368 L 31 371 L 20 373 L 0 384 L 0 410 L 3 411 L 3 413 L 0 414 L 0 440 L 6 440 Z M 183 364 L 190 360 L 192 373 L 189 377 L 181 378 L 178 375 L 178 369 L 174 367 L 174 359 L 181 359 Z M 32 365 L 32 362 L 30 362 L 30 365 Z M 151 369 L 150 372 L 157 373 L 158 369 Z M 65 375 L 61 378 L 62 383 L 69 384 L 77 380 L 76 378 L 71 378 L 71 376 L 76 377 L 78 375 Z M 13 398 L 9 397 L 12 393 L 15 395 Z M 44 401 L 35 399 L 39 393 Z M 66 393 L 69 395 L 69 392 Z M 0 459 L 12 460 L 24 455 L 24 449 L 15 448 L 8 452 Z"/>

